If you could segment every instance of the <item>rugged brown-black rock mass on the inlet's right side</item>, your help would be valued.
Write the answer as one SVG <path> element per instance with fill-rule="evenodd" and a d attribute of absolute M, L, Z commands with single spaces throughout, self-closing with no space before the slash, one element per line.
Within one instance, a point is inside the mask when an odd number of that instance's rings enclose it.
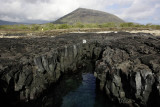
<path fill-rule="evenodd" d="M 107 42 L 94 73 L 100 88 L 121 104 L 159 105 L 159 43 L 141 36 Z"/>

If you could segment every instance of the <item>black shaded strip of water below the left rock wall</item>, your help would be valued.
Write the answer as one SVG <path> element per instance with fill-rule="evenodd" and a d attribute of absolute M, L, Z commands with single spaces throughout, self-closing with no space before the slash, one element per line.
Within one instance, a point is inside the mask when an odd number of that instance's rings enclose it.
<path fill-rule="evenodd" d="M 81 74 L 64 75 L 55 87 L 43 98 L 44 107 L 61 107 L 63 97 L 74 92 L 82 84 Z"/>

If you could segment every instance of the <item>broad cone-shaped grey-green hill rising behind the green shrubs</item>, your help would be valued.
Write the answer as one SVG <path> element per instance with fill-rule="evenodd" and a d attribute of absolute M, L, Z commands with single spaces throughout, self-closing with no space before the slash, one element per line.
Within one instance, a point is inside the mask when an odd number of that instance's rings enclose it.
<path fill-rule="evenodd" d="M 123 23 L 124 21 L 119 17 L 92 9 L 78 8 L 73 12 L 61 17 L 56 20 L 55 24 L 74 24 L 74 23 L 107 23 L 107 22 L 115 22 L 115 23 Z"/>

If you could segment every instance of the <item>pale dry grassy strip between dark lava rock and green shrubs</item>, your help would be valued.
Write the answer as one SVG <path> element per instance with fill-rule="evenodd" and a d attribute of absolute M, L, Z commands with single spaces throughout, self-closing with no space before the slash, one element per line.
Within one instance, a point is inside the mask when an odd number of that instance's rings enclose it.
<path fill-rule="evenodd" d="M 55 29 L 50 31 L 0 31 L 0 38 L 35 38 L 35 37 L 55 37 L 66 33 L 117 33 L 118 31 L 130 33 L 150 33 L 154 36 L 160 36 L 160 30 L 149 29 L 127 29 L 127 28 L 83 28 L 83 29 Z"/>

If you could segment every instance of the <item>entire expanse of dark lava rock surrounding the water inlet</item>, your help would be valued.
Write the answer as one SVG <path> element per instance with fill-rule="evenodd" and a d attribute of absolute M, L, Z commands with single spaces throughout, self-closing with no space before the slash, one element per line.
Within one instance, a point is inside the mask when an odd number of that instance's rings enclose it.
<path fill-rule="evenodd" d="M 111 100 L 129 106 L 160 105 L 160 38 L 125 32 L 1 38 L 0 98 L 35 100 L 61 75 L 87 66 L 88 59 L 95 63 L 94 75 Z"/>

